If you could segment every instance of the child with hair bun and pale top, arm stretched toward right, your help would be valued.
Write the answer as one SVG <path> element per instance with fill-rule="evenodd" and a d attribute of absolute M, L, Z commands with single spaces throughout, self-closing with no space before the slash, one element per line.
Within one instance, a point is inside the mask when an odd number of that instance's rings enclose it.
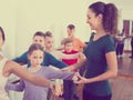
<path fill-rule="evenodd" d="M 65 53 L 62 53 L 61 51 L 57 50 L 54 48 L 53 37 L 52 37 L 52 33 L 50 31 L 45 32 L 44 43 L 45 43 L 45 51 L 49 52 L 50 54 L 52 54 L 53 57 L 55 57 L 59 60 L 61 60 L 61 59 L 70 60 L 70 59 L 78 59 L 79 58 L 79 52 L 71 53 L 71 54 L 65 54 Z M 63 84 L 63 81 L 61 79 L 55 80 L 55 90 L 58 90 L 55 92 L 55 94 L 62 96 L 62 93 L 63 93 L 62 84 Z"/>

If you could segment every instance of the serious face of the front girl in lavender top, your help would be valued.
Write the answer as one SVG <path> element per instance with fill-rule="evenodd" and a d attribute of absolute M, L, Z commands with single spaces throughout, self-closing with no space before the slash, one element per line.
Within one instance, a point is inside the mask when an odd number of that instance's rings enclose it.
<path fill-rule="evenodd" d="M 43 51 L 33 50 L 30 54 L 28 54 L 28 58 L 32 67 L 40 67 L 43 61 Z"/>

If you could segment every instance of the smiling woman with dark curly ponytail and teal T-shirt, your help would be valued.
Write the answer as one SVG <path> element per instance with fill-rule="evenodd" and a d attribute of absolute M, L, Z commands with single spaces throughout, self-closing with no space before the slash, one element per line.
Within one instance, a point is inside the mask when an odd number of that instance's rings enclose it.
<path fill-rule="evenodd" d="M 86 59 L 73 66 L 73 69 L 86 67 L 85 78 L 78 74 L 75 83 L 84 83 L 83 100 L 111 100 L 108 79 L 117 74 L 115 47 L 111 37 L 117 33 L 117 9 L 113 3 L 94 2 L 89 7 L 86 17 L 91 30 L 96 33 L 84 50 Z"/>

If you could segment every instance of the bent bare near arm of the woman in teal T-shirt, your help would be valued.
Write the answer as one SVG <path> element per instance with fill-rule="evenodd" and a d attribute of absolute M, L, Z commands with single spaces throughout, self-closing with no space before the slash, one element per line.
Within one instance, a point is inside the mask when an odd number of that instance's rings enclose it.
<path fill-rule="evenodd" d="M 115 52 L 109 52 L 105 54 L 106 57 L 106 61 L 108 61 L 108 66 L 109 66 L 109 70 L 98 77 L 94 78 L 83 78 L 81 76 L 79 77 L 79 81 L 76 81 L 75 83 L 91 83 L 91 82 L 96 82 L 96 81 L 102 81 L 102 80 L 106 80 L 110 78 L 114 78 L 117 76 L 117 61 L 116 61 L 116 56 Z"/>

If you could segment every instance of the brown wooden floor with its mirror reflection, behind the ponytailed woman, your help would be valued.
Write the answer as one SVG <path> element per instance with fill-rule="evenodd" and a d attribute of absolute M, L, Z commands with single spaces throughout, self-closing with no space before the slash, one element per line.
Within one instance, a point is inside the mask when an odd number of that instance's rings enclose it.
<path fill-rule="evenodd" d="M 133 100 L 133 59 L 130 59 L 130 53 L 124 53 L 117 58 L 119 76 L 111 79 L 112 100 Z M 82 84 L 78 87 L 78 96 L 82 100 Z M 63 100 L 63 99 L 60 99 Z"/>

